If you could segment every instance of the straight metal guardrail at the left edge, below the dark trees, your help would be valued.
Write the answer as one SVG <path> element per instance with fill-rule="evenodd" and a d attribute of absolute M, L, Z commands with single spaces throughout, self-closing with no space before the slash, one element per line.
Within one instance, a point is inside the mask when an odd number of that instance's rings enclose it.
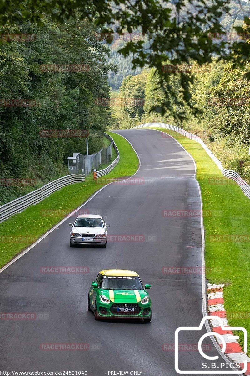
<path fill-rule="evenodd" d="M 6 203 L 0 206 L 0 222 L 6 220 L 13 214 L 22 212 L 24 209 L 28 208 L 28 206 L 37 204 L 45 197 L 48 197 L 51 193 L 63 188 L 66 185 L 84 182 L 84 180 L 84 174 L 72 174 L 59 177 L 59 179 L 53 180 L 35 191 L 27 193 L 18 199 Z"/>

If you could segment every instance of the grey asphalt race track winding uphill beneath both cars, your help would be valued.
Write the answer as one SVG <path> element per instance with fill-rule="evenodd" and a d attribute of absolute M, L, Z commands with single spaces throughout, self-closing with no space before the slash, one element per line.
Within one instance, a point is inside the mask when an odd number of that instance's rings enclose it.
<path fill-rule="evenodd" d="M 105 217 L 110 236 L 143 235 L 142 241 L 109 241 L 106 249 L 70 248 L 68 223 L 75 220 L 73 216 L 0 273 L 0 312 L 35 312 L 40 317 L 0 320 L 1 370 L 87 371 L 91 376 L 119 374 L 111 371 L 177 374 L 174 333 L 179 326 L 201 322 L 202 274 L 169 274 L 164 268 L 201 267 L 201 218 L 164 217 L 162 212 L 201 210 L 195 166 L 173 138 L 160 132 L 117 133 L 138 153 L 141 167 L 134 178 L 140 179 L 105 186 L 84 208 Z M 118 268 L 135 270 L 144 284 L 152 285 L 151 323 L 95 321 L 87 311 L 91 282 L 99 270 L 116 268 L 116 262 Z M 84 266 L 88 273 L 45 274 L 44 266 Z M 191 350 L 189 346 L 180 351 L 181 369 L 202 370 L 206 360 L 194 348 L 200 336 L 181 335 L 180 343 L 191 345 Z M 41 350 L 41 344 L 48 343 L 84 343 L 87 350 Z M 204 343 L 208 355 L 218 355 L 209 338 Z M 215 362 L 219 367 L 224 361 Z"/>

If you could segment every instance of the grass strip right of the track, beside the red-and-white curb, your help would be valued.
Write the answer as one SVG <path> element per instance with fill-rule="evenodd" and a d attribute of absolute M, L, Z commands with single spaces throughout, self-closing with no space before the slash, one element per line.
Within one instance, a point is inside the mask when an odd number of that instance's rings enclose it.
<path fill-rule="evenodd" d="M 170 134 L 196 162 L 203 202 L 206 278 L 226 284 L 223 296 L 229 324 L 243 326 L 250 333 L 250 201 L 234 180 L 222 175 L 199 143 L 177 132 Z M 243 346 L 241 335 L 240 343 Z"/>

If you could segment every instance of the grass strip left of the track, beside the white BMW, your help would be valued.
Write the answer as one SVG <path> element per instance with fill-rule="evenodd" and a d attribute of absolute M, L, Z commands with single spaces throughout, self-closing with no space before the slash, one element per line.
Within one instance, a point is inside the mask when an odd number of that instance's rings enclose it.
<path fill-rule="evenodd" d="M 113 137 L 120 152 L 120 161 L 115 168 L 98 183 L 88 179 L 82 183 L 67 185 L 40 203 L 0 223 L 0 267 L 78 208 L 104 186 L 108 179 L 131 176 L 136 172 L 139 161 L 133 148 L 120 135 L 107 133 Z"/>

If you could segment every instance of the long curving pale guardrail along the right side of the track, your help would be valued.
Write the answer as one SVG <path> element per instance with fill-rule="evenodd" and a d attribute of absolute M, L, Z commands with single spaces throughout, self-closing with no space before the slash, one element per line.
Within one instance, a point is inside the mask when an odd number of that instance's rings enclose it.
<path fill-rule="evenodd" d="M 202 141 L 202 139 L 196 135 L 193 135 L 192 133 L 187 132 L 184 129 L 181 129 L 179 127 L 176 127 L 174 125 L 165 124 L 165 123 L 147 123 L 147 124 L 141 124 L 135 128 L 151 128 L 151 127 L 158 127 L 158 128 L 165 128 L 169 130 L 174 130 L 175 132 L 178 132 L 182 134 L 183 136 L 186 136 L 188 138 L 193 139 L 194 141 L 201 144 L 201 146 L 205 149 L 207 154 L 210 156 L 211 159 L 216 163 L 216 165 L 219 167 L 220 171 L 222 171 L 223 176 L 228 177 L 229 179 L 233 179 L 241 188 L 243 193 L 250 199 L 250 186 L 245 182 L 245 180 L 242 179 L 242 177 L 233 170 L 227 170 L 226 168 L 223 168 L 222 163 L 219 161 L 219 159 L 216 158 L 216 156 L 211 152 L 210 149 L 208 149 L 207 145 Z"/>

